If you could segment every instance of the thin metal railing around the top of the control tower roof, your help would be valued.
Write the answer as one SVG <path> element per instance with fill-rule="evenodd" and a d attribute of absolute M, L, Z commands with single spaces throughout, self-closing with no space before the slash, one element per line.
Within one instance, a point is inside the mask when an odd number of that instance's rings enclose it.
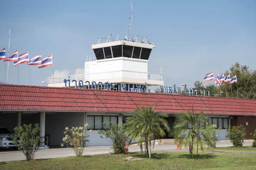
<path fill-rule="evenodd" d="M 148 37 L 140 36 L 140 35 L 134 35 L 134 34 L 126 34 L 126 33 L 118 33 L 118 34 L 110 34 L 110 35 L 104 35 L 97 37 L 99 38 L 98 43 L 104 43 L 104 42 L 112 42 L 112 41 L 119 41 L 119 40 L 128 40 L 128 41 L 134 41 L 134 42 L 143 42 L 150 44 L 150 40 L 147 42 Z"/>

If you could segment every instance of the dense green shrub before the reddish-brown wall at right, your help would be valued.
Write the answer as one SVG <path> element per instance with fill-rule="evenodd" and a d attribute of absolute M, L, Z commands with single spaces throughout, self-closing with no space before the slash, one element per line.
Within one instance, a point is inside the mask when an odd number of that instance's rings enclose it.
<path fill-rule="evenodd" d="M 243 146 L 245 135 L 245 127 L 243 127 L 243 125 L 227 127 L 226 138 L 230 138 L 230 141 L 235 147 Z"/>

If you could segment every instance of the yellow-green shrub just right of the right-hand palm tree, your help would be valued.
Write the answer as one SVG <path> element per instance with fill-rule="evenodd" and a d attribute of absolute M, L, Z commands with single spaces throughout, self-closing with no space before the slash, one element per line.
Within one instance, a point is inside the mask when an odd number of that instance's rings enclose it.
<path fill-rule="evenodd" d="M 208 147 L 216 147 L 216 143 L 220 134 L 220 129 L 221 128 L 216 129 L 216 125 L 206 124 L 206 130 L 204 131 L 203 136 Z"/>

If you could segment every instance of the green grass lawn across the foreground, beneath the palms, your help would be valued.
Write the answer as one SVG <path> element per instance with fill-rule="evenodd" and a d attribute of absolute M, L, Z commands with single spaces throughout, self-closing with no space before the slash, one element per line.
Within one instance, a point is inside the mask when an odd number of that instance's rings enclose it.
<path fill-rule="evenodd" d="M 0 162 L 1 170 L 190 170 L 256 169 L 256 154 L 252 153 L 201 153 L 190 159 L 188 152 L 153 152 L 151 159 L 145 161 L 122 161 L 133 156 L 144 158 L 141 153 L 125 155 L 102 154 L 84 156 L 38 159 L 33 161 Z"/>

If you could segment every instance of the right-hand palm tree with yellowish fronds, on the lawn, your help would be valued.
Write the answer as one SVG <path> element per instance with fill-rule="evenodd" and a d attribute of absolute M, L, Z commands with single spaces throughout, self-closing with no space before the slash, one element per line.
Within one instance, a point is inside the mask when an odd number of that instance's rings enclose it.
<path fill-rule="evenodd" d="M 192 113 L 183 112 L 180 113 L 174 122 L 172 133 L 175 138 L 175 142 L 180 142 L 180 145 L 189 147 L 190 157 L 193 157 L 194 145 L 198 154 L 198 147 L 201 149 L 206 148 L 206 143 L 203 139 L 203 134 L 207 130 L 205 127 L 208 117 L 201 112 L 195 114 L 193 107 Z M 203 124 L 203 125 L 202 125 Z"/>

